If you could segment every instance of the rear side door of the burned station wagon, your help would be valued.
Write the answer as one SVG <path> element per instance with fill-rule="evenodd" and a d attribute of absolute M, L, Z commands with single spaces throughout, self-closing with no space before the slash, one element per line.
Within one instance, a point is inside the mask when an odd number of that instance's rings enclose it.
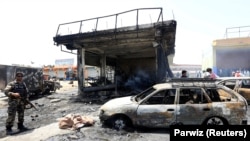
<path fill-rule="evenodd" d="M 212 113 L 211 101 L 202 88 L 181 88 L 178 92 L 176 122 L 201 124 Z"/>

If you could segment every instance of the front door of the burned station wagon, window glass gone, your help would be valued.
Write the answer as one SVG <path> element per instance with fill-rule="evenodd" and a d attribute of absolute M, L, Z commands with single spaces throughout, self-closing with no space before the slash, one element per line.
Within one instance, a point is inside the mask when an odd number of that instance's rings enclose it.
<path fill-rule="evenodd" d="M 136 124 L 145 127 L 168 127 L 175 121 L 176 90 L 167 89 L 156 92 L 138 106 Z"/>

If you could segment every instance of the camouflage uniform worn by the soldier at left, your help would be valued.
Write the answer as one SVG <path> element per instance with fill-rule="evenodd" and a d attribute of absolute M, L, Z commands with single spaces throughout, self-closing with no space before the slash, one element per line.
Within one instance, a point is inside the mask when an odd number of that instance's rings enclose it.
<path fill-rule="evenodd" d="M 28 98 L 28 89 L 24 82 L 12 81 L 10 82 L 6 88 L 4 89 L 5 95 L 9 97 L 8 99 L 8 118 L 6 120 L 6 128 L 7 130 L 12 128 L 16 113 L 18 113 L 18 128 L 21 129 L 24 122 L 24 110 L 25 103 L 22 99 Z M 21 98 L 15 98 L 11 96 L 12 93 L 19 93 Z"/>

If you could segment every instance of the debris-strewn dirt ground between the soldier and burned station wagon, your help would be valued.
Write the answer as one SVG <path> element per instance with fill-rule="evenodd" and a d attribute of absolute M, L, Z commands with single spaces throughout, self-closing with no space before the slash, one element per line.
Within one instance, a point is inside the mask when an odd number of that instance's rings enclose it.
<path fill-rule="evenodd" d="M 27 132 L 6 136 L 5 120 L 7 118 L 7 98 L 0 98 L 0 140 L 1 141 L 159 141 L 169 140 L 169 133 L 165 129 L 144 130 L 136 129 L 132 132 L 116 131 L 102 127 L 98 114 L 102 103 L 84 102 L 77 96 L 77 81 L 61 81 L 62 88 L 56 93 L 44 95 L 31 100 L 39 111 L 27 109 L 25 111 L 25 126 L 31 128 Z M 80 130 L 59 128 L 59 119 L 68 114 L 80 114 L 95 121 L 95 124 L 82 127 Z M 16 120 L 17 121 L 17 120 Z M 16 129 L 16 124 L 13 127 Z"/>

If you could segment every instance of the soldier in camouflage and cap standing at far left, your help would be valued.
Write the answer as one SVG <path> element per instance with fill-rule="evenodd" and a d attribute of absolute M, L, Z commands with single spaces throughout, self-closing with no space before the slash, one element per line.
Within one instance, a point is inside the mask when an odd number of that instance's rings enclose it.
<path fill-rule="evenodd" d="M 4 89 L 5 95 L 8 99 L 8 118 L 6 120 L 6 134 L 11 135 L 14 132 L 12 127 L 15 121 L 16 113 L 18 113 L 18 129 L 19 131 L 25 131 L 26 128 L 23 125 L 24 122 L 24 110 L 26 103 L 23 99 L 28 99 L 28 89 L 26 84 L 22 81 L 23 73 L 17 72 L 15 75 L 15 80 L 8 83 Z"/>

